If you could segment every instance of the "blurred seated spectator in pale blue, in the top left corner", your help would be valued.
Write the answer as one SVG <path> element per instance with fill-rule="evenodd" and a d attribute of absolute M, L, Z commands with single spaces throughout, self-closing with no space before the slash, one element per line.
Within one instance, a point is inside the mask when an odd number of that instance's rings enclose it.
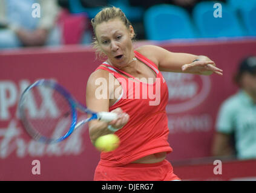
<path fill-rule="evenodd" d="M 32 16 L 33 3 L 39 3 L 41 17 Z M 0 0 L 0 49 L 59 45 L 58 10 L 54 0 Z"/>

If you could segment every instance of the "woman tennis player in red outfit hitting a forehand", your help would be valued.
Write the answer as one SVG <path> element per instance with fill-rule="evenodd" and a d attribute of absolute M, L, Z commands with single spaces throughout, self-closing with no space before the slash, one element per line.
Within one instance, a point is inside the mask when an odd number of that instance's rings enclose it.
<path fill-rule="evenodd" d="M 120 138 L 116 150 L 101 153 L 94 180 L 180 180 L 165 159 L 172 148 L 165 112 L 168 87 L 160 71 L 222 75 L 222 70 L 203 55 L 174 53 L 154 45 L 134 49 L 134 29 L 120 8 L 103 8 L 91 23 L 96 52 L 107 60 L 88 78 L 87 107 L 115 112 L 119 118 L 91 121 L 90 138 L 93 144 L 104 134 Z M 100 80 L 107 85 L 102 87 Z M 107 97 L 98 96 L 100 87 Z M 156 91 L 154 98 L 149 90 Z"/>

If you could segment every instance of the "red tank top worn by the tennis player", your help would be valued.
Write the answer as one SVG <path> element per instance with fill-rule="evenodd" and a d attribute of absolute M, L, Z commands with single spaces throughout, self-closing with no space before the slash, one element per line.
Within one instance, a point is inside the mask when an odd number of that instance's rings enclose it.
<path fill-rule="evenodd" d="M 126 165 L 149 154 L 172 151 L 168 143 L 169 128 L 165 112 L 168 103 L 168 87 L 165 79 L 151 60 L 137 51 L 134 51 L 134 54 L 137 60 L 156 72 L 154 82 L 151 78 L 148 83 L 143 83 L 108 63 L 103 63 L 104 66 L 97 68 L 113 74 L 122 85 L 122 97 L 109 110 L 120 107 L 130 116 L 128 123 L 115 133 L 120 138 L 120 146 L 114 151 L 101 153 L 100 165 Z"/>

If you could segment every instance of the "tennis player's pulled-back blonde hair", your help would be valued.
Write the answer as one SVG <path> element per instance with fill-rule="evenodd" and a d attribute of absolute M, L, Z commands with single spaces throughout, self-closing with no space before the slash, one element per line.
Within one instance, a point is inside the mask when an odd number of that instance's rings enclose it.
<path fill-rule="evenodd" d="M 123 24 L 125 24 L 126 28 L 129 30 L 131 22 L 127 19 L 125 14 L 120 8 L 117 7 L 105 7 L 96 14 L 96 16 L 91 19 L 91 25 L 93 26 L 93 48 L 96 49 L 96 57 L 102 58 L 105 54 L 101 51 L 99 42 L 96 37 L 96 27 L 98 24 L 102 22 L 110 21 L 111 19 L 119 18 Z M 134 34 L 135 37 L 135 34 Z M 133 39 L 134 39 L 133 37 Z"/>

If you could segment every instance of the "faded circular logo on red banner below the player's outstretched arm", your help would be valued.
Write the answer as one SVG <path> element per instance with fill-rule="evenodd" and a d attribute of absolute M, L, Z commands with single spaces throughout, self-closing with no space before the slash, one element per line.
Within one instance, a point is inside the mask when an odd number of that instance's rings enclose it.
<path fill-rule="evenodd" d="M 209 76 L 162 72 L 169 90 L 166 113 L 180 113 L 199 106 L 211 90 Z"/>

